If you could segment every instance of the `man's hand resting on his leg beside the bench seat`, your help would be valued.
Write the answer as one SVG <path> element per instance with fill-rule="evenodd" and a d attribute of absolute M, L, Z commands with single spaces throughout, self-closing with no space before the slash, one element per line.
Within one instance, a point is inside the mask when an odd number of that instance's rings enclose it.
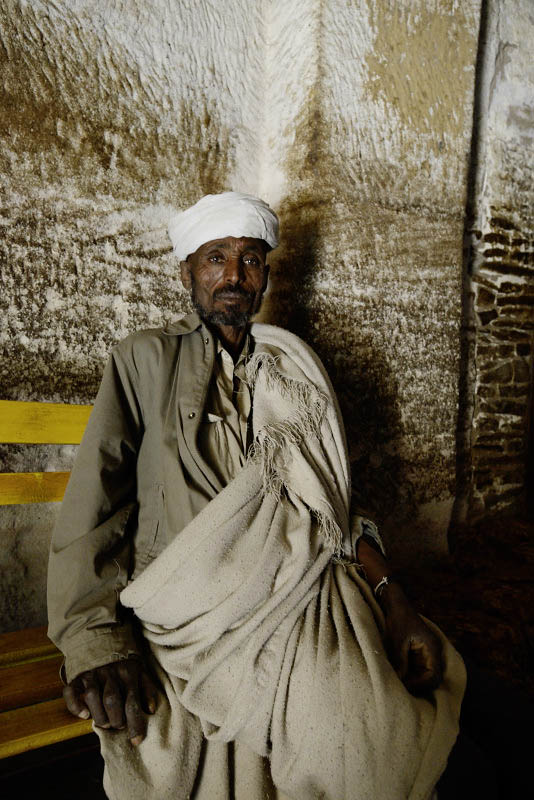
<path fill-rule="evenodd" d="M 145 738 L 145 713 L 156 710 L 157 689 L 139 659 L 128 658 L 82 672 L 63 689 L 75 717 L 99 728 L 128 728 L 133 745 Z"/>

